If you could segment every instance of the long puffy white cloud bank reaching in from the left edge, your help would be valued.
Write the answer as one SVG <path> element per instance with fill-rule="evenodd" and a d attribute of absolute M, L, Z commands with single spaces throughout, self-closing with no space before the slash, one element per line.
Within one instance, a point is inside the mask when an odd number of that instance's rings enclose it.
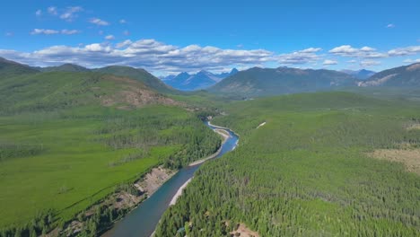
<path fill-rule="evenodd" d="M 125 40 L 117 44 L 94 43 L 78 47 L 53 46 L 33 52 L 0 49 L 0 56 L 33 66 L 62 63 L 90 67 L 123 65 L 167 72 L 216 71 L 227 66 L 255 66 L 275 60 L 274 53 L 265 49 L 223 49 L 198 45 L 178 47 L 157 40 Z"/>

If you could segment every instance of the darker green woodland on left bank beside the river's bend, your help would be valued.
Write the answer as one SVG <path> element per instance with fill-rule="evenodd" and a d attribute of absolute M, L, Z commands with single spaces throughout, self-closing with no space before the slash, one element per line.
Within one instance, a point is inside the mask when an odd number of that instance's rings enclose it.
<path fill-rule="evenodd" d="M 179 169 L 214 154 L 221 145 L 221 138 L 203 126 L 197 117 L 168 118 L 144 114 L 110 118 L 95 133 L 98 142 L 114 149 L 138 148 L 139 153 L 126 157 L 126 161 L 144 157 L 151 146 L 181 145 L 176 154 L 162 160 L 165 168 L 171 169 Z"/>

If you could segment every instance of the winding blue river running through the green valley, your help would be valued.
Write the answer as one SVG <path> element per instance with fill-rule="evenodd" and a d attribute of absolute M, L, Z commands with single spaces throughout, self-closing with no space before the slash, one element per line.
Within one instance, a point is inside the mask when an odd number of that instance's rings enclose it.
<path fill-rule="evenodd" d="M 206 126 L 211 129 L 223 129 L 229 133 L 229 137 L 222 145 L 221 151 L 215 158 L 226 154 L 235 149 L 238 144 L 239 137 L 230 129 L 217 127 L 206 122 Z M 171 199 L 175 196 L 178 189 L 189 179 L 194 176 L 194 172 L 202 163 L 194 166 L 188 166 L 179 170 L 171 180 L 166 181 L 162 187 L 150 198 L 136 207 L 132 212 L 128 213 L 124 219 L 119 221 L 115 226 L 104 233 L 102 237 L 149 237 L 154 232 L 156 225 L 159 223 L 162 214 L 169 207 Z"/>

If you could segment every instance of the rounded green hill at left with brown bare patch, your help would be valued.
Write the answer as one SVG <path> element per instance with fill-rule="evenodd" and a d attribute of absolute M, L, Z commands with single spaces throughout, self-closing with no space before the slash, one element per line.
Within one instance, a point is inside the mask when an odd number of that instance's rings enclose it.
<path fill-rule="evenodd" d="M 57 110 L 84 105 L 136 108 L 158 103 L 174 104 L 175 101 L 136 80 L 92 72 L 21 75 L 0 82 L 0 108 L 3 112 Z"/>

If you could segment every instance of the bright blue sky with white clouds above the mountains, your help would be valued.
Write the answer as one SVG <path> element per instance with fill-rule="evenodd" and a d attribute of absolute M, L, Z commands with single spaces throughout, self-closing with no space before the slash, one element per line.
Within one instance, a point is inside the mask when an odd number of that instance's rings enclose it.
<path fill-rule="evenodd" d="M 156 75 L 420 62 L 420 1 L 4 1 L 0 57 Z"/>

